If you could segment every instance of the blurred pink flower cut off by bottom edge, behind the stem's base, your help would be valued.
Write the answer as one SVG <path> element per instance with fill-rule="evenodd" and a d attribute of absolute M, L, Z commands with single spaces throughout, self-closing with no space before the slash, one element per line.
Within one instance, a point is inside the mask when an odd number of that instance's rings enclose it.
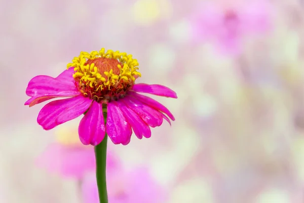
<path fill-rule="evenodd" d="M 162 203 L 164 189 L 145 168 L 127 171 L 107 171 L 108 200 L 111 203 Z M 98 190 L 94 174 L 88 175 L 82 185 L 84 203 L 98 203 Z"/>

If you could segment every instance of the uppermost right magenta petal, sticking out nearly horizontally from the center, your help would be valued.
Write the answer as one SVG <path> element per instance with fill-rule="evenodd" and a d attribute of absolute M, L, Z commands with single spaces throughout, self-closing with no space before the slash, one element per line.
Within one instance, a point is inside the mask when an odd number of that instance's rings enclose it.
<path fill-rule="evenodd" d="M 133 85 L 132 89 L 136 92 L 143 92 L 143 93 L 155 94 L 159 96 L 177 98 L 175 91 L 163 85 L 157 85 L 157 84 L 148 85 L 145 83 L 138 83 Z"/>

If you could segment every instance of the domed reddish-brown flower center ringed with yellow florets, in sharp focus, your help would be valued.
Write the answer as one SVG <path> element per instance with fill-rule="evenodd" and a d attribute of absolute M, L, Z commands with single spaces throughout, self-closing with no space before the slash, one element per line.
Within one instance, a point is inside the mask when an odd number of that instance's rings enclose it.
<path fill-rule="evenodd" d="M 141 76 L 138 65 L 132 55 L 112 50 L 105 53 L 102 48 L 99 52 L 81 52 L 67 68 L 74 67 L 75 85 L 84 96 L 107 104 L 126 95 Z"/>

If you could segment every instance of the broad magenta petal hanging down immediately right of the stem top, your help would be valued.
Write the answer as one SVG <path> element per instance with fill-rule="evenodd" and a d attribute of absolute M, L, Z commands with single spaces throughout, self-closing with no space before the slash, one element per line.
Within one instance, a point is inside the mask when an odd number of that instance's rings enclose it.
<path fill-rule="evenodd" d="M 116 101 L 107 104 L 106 133 L 114 144 L 129 144 L 132 129 Z"/>

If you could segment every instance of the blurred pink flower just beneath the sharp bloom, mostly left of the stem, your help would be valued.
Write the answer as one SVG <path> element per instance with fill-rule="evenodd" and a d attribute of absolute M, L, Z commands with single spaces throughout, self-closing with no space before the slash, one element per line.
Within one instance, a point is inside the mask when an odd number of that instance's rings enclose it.
<path fill-rule="evenodd" d="M 36 160 L 37 166 L 64 177 L 82 179 L 95 172 L 95 155 L 92 146 L 52 144 Z M 119 162 L 107 153 L 107 168 L 119 168 Z"/>

